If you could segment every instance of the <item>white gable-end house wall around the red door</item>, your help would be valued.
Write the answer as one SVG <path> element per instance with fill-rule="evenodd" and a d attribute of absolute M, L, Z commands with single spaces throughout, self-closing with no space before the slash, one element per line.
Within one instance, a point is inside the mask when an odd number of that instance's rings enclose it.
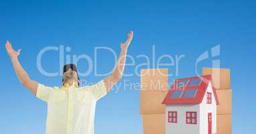
<path fill-rule="evenodd" d="M 207 104 L 207 93 L 205 93 L 202 103 L 200 103 L 200 113 L 202 114 L 200 118 L 200 133 L 208 134 L 208 113 L 212 113 L 212 133 L 216 133 L 216 100 L 210 84 L 208 84 L 206 92 L 212 93 L 212 104 Z"/>

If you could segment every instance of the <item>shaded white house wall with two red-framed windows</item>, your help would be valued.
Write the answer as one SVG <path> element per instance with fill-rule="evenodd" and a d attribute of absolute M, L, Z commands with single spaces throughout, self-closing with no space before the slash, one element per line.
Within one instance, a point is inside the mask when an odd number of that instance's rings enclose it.
<path fill-rule="evenodd" d="M 198 134 L 200 124 L 199 105 L 166 105 L 166 134 Z M 177 123 L 168 123 L 168 111 L 177 111 Z M 197 124 L 186 124 L 186 112 L 197 112 Z"/>

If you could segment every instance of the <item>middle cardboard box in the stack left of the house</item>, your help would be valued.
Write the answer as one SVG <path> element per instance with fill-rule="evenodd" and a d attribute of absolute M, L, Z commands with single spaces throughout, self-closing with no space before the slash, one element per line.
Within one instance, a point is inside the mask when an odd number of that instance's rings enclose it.
<path fill-rule="evenodd" d="M 162 92 L 141 90 L 139 93 L 139 113 L 141 115 L 165 113 L 165 105 L 162 105 L 162 101 L 167 93 L 168 90 Z"/>

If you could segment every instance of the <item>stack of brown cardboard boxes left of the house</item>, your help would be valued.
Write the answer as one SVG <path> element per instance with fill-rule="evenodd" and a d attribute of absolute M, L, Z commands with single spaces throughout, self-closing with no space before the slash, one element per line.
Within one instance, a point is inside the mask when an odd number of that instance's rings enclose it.
<path fill-rule="evenodd" d="M 141 70 L 139 113 L 144 134 L 165 134 L 165 107 L 162 100 L 167 93 L 167 68 Z"/>

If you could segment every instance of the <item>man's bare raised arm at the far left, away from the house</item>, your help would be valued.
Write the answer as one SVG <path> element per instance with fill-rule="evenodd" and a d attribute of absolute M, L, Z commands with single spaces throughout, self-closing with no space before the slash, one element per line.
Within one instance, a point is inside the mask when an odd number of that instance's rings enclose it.
<path fill-rule="evenodd" d="M 21 64 L 19 63 L 18 56 L 21 52 L 21 49 L 17 51 L 13 50 L 13 47 L 11 46 L 11 43 L 9 41 L 6 42 L 5 48 L 11 58 L 11 62 L 13 63 L 13 68 L 17 74 L 17 77 L 19 78 L 19 81 L 23 86 L 28 88 L 36 96 L 36 92 L 38 90 L 38 82 L 31 80 L 27 75 L 27 72 L 25 72 L 25 70 L 22 68 Z"/>

